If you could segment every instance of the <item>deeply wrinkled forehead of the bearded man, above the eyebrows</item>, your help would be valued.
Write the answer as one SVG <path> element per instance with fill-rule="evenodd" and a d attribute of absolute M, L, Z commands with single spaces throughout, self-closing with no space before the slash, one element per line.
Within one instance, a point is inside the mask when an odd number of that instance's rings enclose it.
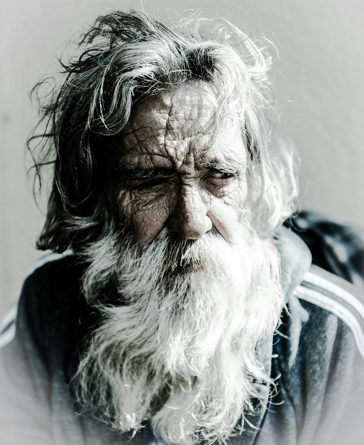
<path fill-rule="evenodd" d="M 241 142 L 238 116 L 219 113 L 218 92 L 204 81 L 149 96 L 132 111 L 121 141 L 121 161 L 158 159 L 174 167 L 224 157 Z M 240 150 L 242 151 L 242 150 Z M 237 156 L 235 154 L 234 156 Z"/>

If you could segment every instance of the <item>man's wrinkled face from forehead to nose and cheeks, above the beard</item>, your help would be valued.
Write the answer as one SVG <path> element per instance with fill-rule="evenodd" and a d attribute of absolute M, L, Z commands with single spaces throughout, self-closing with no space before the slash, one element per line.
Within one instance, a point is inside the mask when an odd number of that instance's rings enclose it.
<path fill-rule="evenodd" d="M 155 238 L 206 232 L 231 241 L 247 197 L 246 148 L 237 117 L 217 120 L 206 82 L 137 104 L 120 141 L 120 213 L 142 249 Z"/>

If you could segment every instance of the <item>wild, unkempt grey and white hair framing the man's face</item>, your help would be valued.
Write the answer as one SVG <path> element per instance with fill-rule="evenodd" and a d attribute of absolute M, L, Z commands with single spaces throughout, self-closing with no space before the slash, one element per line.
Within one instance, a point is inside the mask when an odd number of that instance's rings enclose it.
<path fill-rule="evenodd" d="M 53 166 L 38 248 L 78 252 L 101 236 L 115 218 L 111 147 L 133 104 L 195 80 L 213 82 L 221 110 L 238 110 L 251 159 L 247 205 L 258 233 L 274 233 L 293 210 L 296 180 L 289 150 L 272 133 L 277 113 L 268 43 L 223 19 L 162 21 L 137 11 L 100 16 L 81 36 L 77 55 L 61 62 L 63 79 L 40 99 L 44 131 L 28 143 L 39 181 L 41 167 Z M 45 84 L 33 89 L 38 99 Z"/>

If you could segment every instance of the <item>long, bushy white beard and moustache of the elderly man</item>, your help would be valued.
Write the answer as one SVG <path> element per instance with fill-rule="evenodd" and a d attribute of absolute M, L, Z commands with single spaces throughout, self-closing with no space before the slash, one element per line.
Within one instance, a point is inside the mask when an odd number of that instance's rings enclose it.
<path fill-rule="evenodd" d="M 149 419 L 169 444 L 223 442 L 271 383 L 261 351 L 284 304 L 279 254 L 247 232 L 233 245 L 211 233 L 155 240 L 142 254 L 130 245 L 116 261 L 105 251 L 112 242 L 100 243 L 84 275 L 91 299 L 110 258 L 123 305 L 97 306 L 102 322 L 79 365 L 80 400 L 116 430 Z"/>

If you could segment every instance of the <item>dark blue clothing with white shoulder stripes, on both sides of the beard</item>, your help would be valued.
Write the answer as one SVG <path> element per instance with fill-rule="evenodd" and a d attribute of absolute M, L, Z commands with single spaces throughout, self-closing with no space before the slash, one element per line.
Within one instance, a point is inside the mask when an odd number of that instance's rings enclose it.
<path fill-rule="evenodd" d="M 282 228 L 276 243 L 287 311 L 267 345 L 276 386 L 267 388 L 265 403 L 230 443 L 363 444 L 363 241 L 352 229 L 309 213 L 286 225 L 290 229 Z M 311 254 L 320 267 L 311 265 Z M 5 319 L 0 335 L 3 445 L 131 441 L 131 434 L 116 434 L 77 414 L 71 381 L 94 322 L 80 293 L 82 272 L 72 254 L 43 257 L 25 280 L 17 315 L 13 308 Z M 146 424 L 131 442 L 158 440 Z"/>

